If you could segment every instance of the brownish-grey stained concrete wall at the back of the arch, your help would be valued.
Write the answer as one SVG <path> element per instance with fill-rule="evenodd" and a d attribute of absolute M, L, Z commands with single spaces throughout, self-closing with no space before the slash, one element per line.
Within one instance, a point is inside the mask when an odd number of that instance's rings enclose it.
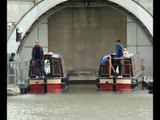
<path fill-rule="evenodd" d="M 98 70 L 103 55 L 126 46 L 126 16 L 111 8 L 67 8 L 48 18 L 49 51 L 64 56 L 70 70 Z"/>

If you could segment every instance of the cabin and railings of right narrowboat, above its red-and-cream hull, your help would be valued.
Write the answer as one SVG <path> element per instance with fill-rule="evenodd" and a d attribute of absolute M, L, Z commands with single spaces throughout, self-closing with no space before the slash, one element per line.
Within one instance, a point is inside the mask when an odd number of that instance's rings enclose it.
<path fill-rule="evenodd" d="M 121 71 L 119 71 L 121 70 Z M 135 77 L 142 74 L 142 60 L 139 55 L 130 58 L 111 58 L 99 66 L 99 77 L 111 77 L 118 73 L 122 77 Z"/>

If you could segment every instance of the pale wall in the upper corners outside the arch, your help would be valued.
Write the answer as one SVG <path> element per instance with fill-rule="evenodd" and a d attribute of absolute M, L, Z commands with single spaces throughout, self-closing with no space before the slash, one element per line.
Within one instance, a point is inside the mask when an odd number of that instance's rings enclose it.
<path fill-rule="evenodd" d="M 7 21 L 18 22 L 18 20 L 31 7 L 42 0 L 7 0 Z M 141 4 L 153 15 L 153 0 L 134 0 Z"/>

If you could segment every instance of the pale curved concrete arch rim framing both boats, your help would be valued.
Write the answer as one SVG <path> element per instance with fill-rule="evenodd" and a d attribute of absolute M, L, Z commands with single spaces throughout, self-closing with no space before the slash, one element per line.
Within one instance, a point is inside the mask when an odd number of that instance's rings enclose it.
<path fill-rule="evenodd" d="M 23 28 L 22 39 L 25 36 L 28 29 L 32 24 L 48 10 L 55 7 L 58 4 L 64 3 L 69 0 L 44 0 L 31 9 L 17 24 L 17 27 Z M 141 6 L 132 0 L 106 0 L 118 4 L 127 11 L 135 15 L 147 28 L 151 36 L 153 37 L 153 17 Z M 9 40 L 7 41 L 7 52 L 17 52 L 17 49 L 21 43 L 16 42 L 16 29 L 12 32 Z"/>

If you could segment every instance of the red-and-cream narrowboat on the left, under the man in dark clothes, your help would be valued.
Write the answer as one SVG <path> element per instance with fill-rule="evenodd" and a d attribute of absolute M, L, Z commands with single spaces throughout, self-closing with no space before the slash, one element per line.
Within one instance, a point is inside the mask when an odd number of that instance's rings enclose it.
<path fill-rule="evenodd" d="M 34 65 L 30 60 L 28 75 L 28 92 L 29 93 L 47 93 L 62 91 L 68 86 L 69 76 L 65 71 L 64 60 L 59 54 L 45 52 L 43 59 L 43 70 L 45 77 L 39 72 L 39 77 L 34 74 Z"/>

